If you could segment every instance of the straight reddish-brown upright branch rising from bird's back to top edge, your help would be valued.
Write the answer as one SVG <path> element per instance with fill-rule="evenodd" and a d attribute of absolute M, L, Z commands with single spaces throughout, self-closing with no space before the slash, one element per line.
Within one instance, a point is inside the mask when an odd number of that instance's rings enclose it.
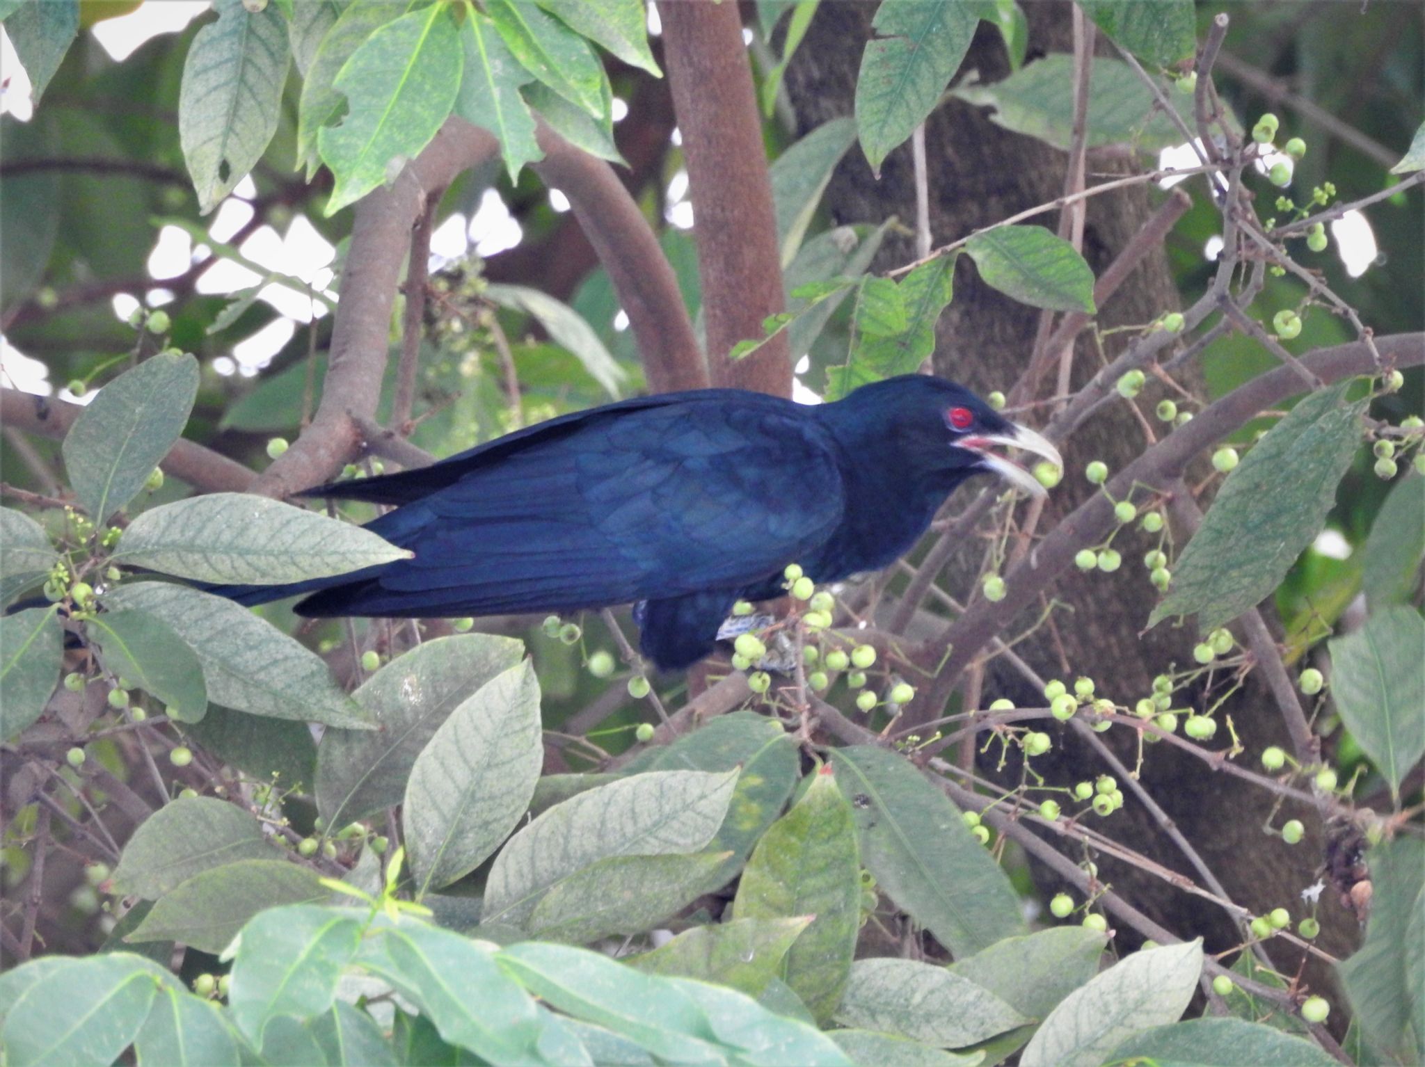
<path fill-rule="evenodd" d="M 785 311 L 772 184 L 737 4 L 660 6 L 673 105 L 693 194 L 693 232 L 712 383 L 791 396 L 787 336 L 728 352 Z"/>

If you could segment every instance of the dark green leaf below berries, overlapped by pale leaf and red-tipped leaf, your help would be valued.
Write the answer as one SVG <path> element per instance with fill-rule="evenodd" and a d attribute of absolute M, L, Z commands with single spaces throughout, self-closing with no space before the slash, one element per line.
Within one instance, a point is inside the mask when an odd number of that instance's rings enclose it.
<path fill-rule="evenodd" d="M 742 866 L 752 845 L 781 815 L 801 774 L 797 742 L 782 725 L 751 711 L 720 715 L 651 751 L 638 771 L 712 771 L 741 768 L 722 826 L 708 842 L 710 852 L 731 850 L 724 882 Z M 631 768 L 628 768 L 631 771 Z M 697 976 L 691 976 L 697 977 Z"/>

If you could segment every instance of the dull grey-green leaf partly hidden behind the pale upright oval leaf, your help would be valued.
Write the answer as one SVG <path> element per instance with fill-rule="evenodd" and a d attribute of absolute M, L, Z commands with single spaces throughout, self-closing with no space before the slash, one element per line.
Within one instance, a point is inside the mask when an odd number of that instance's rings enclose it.
<path fill-rule="evenodd" d="M 376 729 L 329 729 L 316 749 L 316 809 L 326 825 L 400 803 L 440 724 L 523 655 L 512 637 L 456 634 L 423 641 L 368 678 L 352 697 Z"/>

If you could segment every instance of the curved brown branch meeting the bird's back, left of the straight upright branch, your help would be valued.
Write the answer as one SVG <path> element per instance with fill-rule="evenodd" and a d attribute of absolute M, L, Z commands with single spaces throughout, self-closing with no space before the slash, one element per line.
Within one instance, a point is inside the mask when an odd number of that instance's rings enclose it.
<path fill-rule="evenodd" d="M 638 342 L 648 387 L 656 393 L 705 389 L 707 365 L 688 309 L 658 236 L 628 189 L 596 160 L 547 125 L 539 125 L 544 158 L 534 171 L 569 197 L 584 235 L 608 272 Z"/>

